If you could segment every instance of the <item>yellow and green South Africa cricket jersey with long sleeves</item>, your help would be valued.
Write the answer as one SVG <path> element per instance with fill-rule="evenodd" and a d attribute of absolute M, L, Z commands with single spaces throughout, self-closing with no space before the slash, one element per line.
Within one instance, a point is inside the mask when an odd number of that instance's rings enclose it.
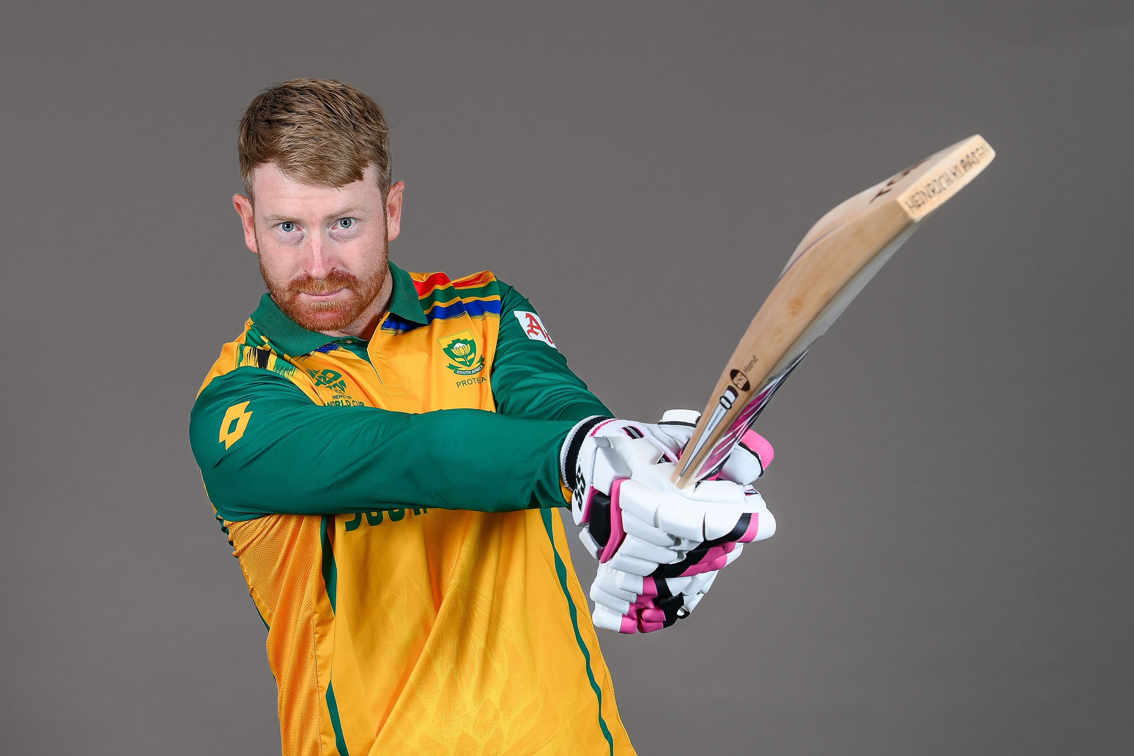
<path fill-rule="evenodd" d="M 633 754 L 556 509 L 609 410 L 492 273 L 390 273 L 370 341 L 264 295 L 191 416 L 284 753 Z"/>

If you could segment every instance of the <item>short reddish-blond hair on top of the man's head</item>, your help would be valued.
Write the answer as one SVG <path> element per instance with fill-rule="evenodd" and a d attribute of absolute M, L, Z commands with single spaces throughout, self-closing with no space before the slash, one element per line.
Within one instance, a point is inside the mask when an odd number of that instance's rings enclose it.
<path fill-rule="evenodd" d="M 390 188 L 390 133 L 378 103 L 335 79 L 296 78 L 264 90 L 240 118 L 240 177 L 252 196 L 256 165 L 273 162 L 308 184 L 361 181 L 373 164 Z"/>

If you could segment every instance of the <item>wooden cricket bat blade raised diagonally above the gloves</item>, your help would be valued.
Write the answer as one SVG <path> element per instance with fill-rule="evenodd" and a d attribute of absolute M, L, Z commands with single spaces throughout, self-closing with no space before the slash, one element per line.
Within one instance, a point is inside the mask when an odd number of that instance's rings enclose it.
<path fill-rule="evenodd" d="M 719 468 L 815 339 L 921 221 L 995 156 L 988 142 L 971 136 L 856 194 L 811 227 L 721 373 L 674 483 L 685 489 Z"/>

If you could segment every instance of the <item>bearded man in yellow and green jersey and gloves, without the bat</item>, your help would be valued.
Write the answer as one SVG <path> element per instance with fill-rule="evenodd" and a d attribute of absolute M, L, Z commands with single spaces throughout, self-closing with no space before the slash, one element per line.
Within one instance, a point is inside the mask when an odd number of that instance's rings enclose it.
<path fill-rule="evenodd" d="M 268 286 L 191 416 L 268 627 L 285 754 L 632 754 L 556 508 L 600 560 L 594 625 L 668 627 L 775 520 L 746 436 L 669 484 L 696 414 L 613 419 L 491 272 L 407 273 L 381 110 L 297 79 L 239 127 Z"/>

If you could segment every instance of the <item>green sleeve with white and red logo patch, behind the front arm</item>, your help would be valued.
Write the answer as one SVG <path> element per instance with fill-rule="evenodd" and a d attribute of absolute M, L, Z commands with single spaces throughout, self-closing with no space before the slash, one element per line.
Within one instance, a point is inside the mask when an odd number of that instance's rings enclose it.
<path fill-rule="evenodd" d="M 503 281 L 500 284 L 500 337 L 492 360 L 497 411 L 528 419 L 581 421 L 613 417 L 586 384 L 567 367 L 552 346 L 531 339 L 516 313 L 535 313 L 532 303 Z M 522 316 L 524 317 L 524 316 Z"/>

